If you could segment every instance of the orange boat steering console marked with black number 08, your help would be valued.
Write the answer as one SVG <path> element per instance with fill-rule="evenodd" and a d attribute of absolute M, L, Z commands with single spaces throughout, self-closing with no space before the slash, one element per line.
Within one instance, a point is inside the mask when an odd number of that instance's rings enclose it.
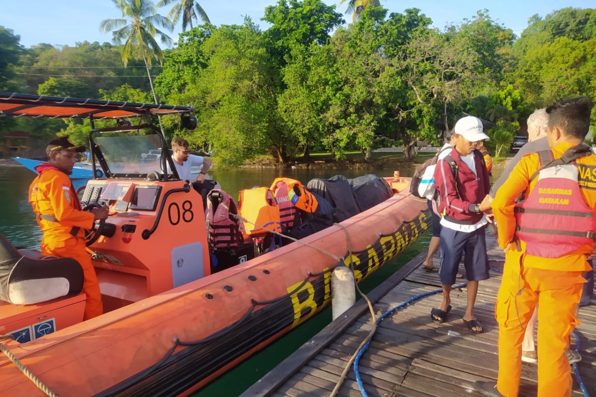
<path fill-rule="evenodd" d="M 210 274 L 202 199 L 184 181 L 91 180 L 82 201 L 110 207 L 113 235 L 89 246 L 105 311 Z"/>

